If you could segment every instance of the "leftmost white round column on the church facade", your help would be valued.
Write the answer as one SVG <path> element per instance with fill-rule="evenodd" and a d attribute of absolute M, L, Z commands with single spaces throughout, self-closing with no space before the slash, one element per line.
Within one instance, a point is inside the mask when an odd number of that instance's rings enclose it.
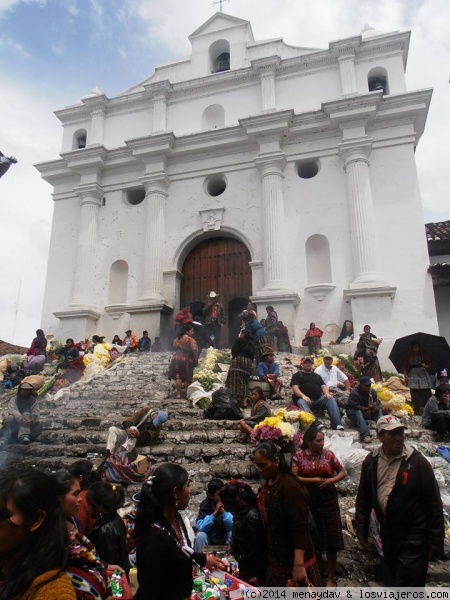
<path fill-rule="evenodd" d="M 94 298 L 98 211 L 103 191 L 94 184 L 77 193 L 80 196 L 81 213 L 71 306 L 89 306 Z"/>

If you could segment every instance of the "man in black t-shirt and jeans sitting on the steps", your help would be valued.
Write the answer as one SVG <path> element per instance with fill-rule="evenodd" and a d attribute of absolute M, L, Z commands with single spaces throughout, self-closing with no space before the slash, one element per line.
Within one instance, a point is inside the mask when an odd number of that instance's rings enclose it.
<path fill-rule="evenodd" d="M 294 373 L 291 379 L 294 404 L 311 414 L 314 410 L 326 410 L 331 419 L 331 427 L 338 430 L 344 429 L 336 399 L 322 377 L 313 373 L 313 359 L 306 356 L 302 361 L 302 367 L 303 370 Z"/>

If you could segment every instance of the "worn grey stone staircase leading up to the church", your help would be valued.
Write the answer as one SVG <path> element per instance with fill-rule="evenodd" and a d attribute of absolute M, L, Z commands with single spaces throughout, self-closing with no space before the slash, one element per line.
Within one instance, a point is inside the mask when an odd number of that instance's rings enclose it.
<path fill-rule="evenodd" d="M 288 356 L 277 355 L 286 387 L 283 388 L 285 398 L 272 403 L 273 409 L 286 406 L 290 401 L 289 382 L 297 369 Z M 12 462 L 53 471 L 85 457 L 99 463 L 105 453 L 108 427 L 120 424 L 124 417 L 149 405 L 166 410 L 169 420 L 164 424 L 158 442 L 139 448 L 139 453 L 147 455 L 152 465 L 177 462 L 188 470 L 192 480 L 189 508 L 193 515 L 197 514 L 211 477 L 240 478 L 256 488 L 259 479 L 251 461 L 253 447 L 243 443 L 235 421 L 205 420 L 200 409 L 192 408 L 187 400 L 175 399 L 174 385 L 166 375 L 170 359 L 171 353 L 131 354 L 89 383 L 74 384 L 58 400 L 48 394 L 40 400 L 41 442 L 29 446 L 0 445 L 0 468 Z M 7 394 L 0 396 L 0 416 L 7 412 L 7 400 Z M 329 425 L 326 417 L 321 419 L 325 426 Z M 357 431 L 349 427 L 333 434 L 358 440 Z M 420 428 L 418 418 L 410 420 L 407 435 L 409 441 L 425 454 L 435 453 L 436 444 L 432 443 L 430 432 Z M 139 488 L 129 486 L 128 497 Z M 343 519 L 345 515 L 352 515 L 356 489 L 357 481 L 352 477 L 338 484 Z M 347 534 L 348 549 L 339 554 L 341 585 L 367 585 L 364 581 L 367 581 L 367 572 L 371 570 L 375 555 L 361 553 L 355 539 L 347 531 L 344 533 Z M 434 584 L 450 585 L 446 563 L 436 563 L 431 573 Z"/>

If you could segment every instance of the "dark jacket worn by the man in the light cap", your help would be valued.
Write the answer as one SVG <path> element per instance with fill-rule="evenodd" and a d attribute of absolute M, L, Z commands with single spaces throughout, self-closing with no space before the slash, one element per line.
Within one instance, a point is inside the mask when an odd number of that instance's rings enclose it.
<path fill-rule="evenodd" d="M 417 450 L 402 459 L 386 514 L 377 500 L 377 468 L 380 449 L 364 459 L 356 497 L 355 525 L 358 536 L 367 537 L 370 512 L 375 509 L 383 544 L 419 540 L 436 555 L 444 551 L 444 516 L 433 468 Z"/>

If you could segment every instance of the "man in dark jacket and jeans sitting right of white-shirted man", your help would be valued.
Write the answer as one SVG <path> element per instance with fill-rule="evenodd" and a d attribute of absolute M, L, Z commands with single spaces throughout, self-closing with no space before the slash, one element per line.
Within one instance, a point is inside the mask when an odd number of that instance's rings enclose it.
<path fill-rule="evenodd" d="M 372 441 L 367 421 L 378 421 L 383 416 L 377 393 L 371 387 L 370 377 L 364 375 L 359 380 L 358 387 L 351 391 L 347 402 L 347 417 L 356 425 L 359 439 L 365 444 Z"/>

